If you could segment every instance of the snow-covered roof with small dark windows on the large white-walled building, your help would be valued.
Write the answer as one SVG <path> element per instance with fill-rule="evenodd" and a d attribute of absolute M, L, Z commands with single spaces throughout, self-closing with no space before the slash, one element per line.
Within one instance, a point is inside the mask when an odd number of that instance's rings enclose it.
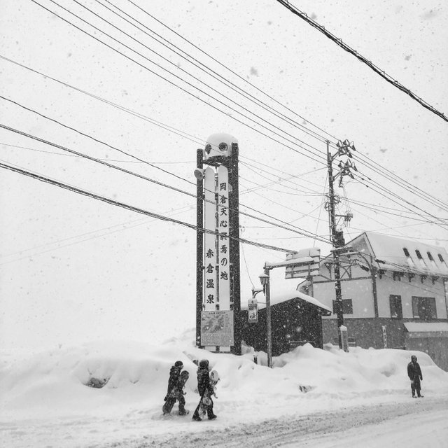
<path fill-rule="evenodd" d="M 364 232 L 347 246 L 353 246 L 357 251 L 365 251 L 373 258 L 384 261 L 378 263 L 380 269 L 401 268 L 410 272 L 448 277 L 448 253 L 440 246 L 374 232 Z"/>

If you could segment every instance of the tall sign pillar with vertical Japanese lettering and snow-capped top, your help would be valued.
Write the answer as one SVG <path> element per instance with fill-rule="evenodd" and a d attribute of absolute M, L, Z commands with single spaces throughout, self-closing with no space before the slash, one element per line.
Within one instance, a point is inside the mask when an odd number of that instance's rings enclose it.
<path fill-rule="evenodd" d="M 202 155 L 195 170 L 196 344 L 209 351 L 241 354 L 237 139 L 213 134 Z"/>

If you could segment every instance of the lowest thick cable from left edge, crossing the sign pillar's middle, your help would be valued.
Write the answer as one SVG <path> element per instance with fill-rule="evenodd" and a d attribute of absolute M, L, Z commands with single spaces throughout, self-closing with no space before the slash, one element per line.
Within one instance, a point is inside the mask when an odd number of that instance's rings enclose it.
<path fill-rule="evenodd" d="M 193 230 L 199 230 L 200 232 L 203 232 L 203 233 L 210 233 L 212 235 L 219 236 L 219 233 L 215 232 L 214 230 L 198 228 L 196 225 L 193 225 L 193 224 L 190 224 L 190 223 L 186 223 L 184 221 L 179 221 L 179 220 L 174 219 L 174 218 L 169 218 L 168 216 L 155 214 L 152 211 L 139 209 L 138 207 L 133 207 L 131 205 L 125 204 L 124 202 L 118 202 L 118 201 L 115 201 L 115 200 L 111 200 L 108 197 L 96 195 L 96 194 L 90 193 L 90 192 L 88 192 L 86 190 L 81 190 L 80 188 L 69 186 L 66 183 L 55 181 L 54 179 L 50 179 L 48 177 L 41 176 L 40 174 L 31 173 L 31 172 L 29 172 L 29 171 L 27 171 L 25 169 L 20 169 L 20 168 L 17 168 L 17 167 L 13 167 L 11 165 L 6 165 L 5 163 L 1 163 L 1 162 L 0 162 L 0 168 L 9 169 L 10 171 L 16 172 L 18 174 L 23 174 L 24 176 L 29 176 L 29 177 L 31 177 L 33 179 L 38 180 L 38 181 L 41 181 L 41 182 L 44 182 L 44 183 L 49 183 L 50 185 L 57 186 L 59 188 L 64 188 L 64 190 L 69 190 L 69 191 L 71 191 L 73 193 L 78 193 L 79 195 L 91 197 L 92 199 L 99 200 L 99 201 L 102 201 L 102 202 L 106 202 L 106 204 L 114 205 L 116 207 L 122 207 L 123 209 L 134 211 L 135 213 L 143 214 L 143 215 L 146 215 L 146 216 L 151 216 L 151 218 L 156 218 L 156 219 L 159 219 L 161 221 L 166 221 L 166 222 L 169 222 L 169 223 L 183 225 L 183 226 L 188 227 L 188 228 L 193 229 Z M 249 241 L 248 239 L 244 239 L 244 238 L 235 238 L 235 237 L 232 237 L 230 235 L 229 235 L 229 238 L 230 239 L 235 239 L 236 241 L 240 241 L 241 243 L 244 243 L 244 244 L 251 244 L 252 246 L 257 246 L 257 247 L 261 247 L 261 248 L 267 248 L 267 249 L 270 249 L 270 250 L 273 250 L 273 251 L 292 252 L 290 249 L 280 248 L 280 247 L 276 247 L 276 246 L 269 246 L 267 244 L 255 243 L 254 241 Z"/>

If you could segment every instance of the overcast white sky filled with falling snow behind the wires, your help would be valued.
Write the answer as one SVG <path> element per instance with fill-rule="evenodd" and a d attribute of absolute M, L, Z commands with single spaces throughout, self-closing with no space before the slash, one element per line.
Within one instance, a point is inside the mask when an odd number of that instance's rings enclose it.
<path fill-rule="evenodd" d="M 80 0 L 80 3 L 146 47 L 74 1 L 58 3 L 129 48 L 92 29 L 52 1 L 36 1 L 113 48 L 120 48 L 139 64 L 33 1 L 15 0 L 1 0 L 3 57 L 165 123 L 190 137 L 181 137 L 5 59 L 0 59 L 1 96 L 141 160 L 160 164 L 157 166 L 192 183 L 0 99 L 3 125 L 94 158 L 107 159 L 189 193 L 195 193 L 196 148 L 210 134 L 233 134 L 239 141 L 241 155 L 241 204 L 272 216 L 265 216 L 269 221 L 279 218 L 324 239 L 328 239 L 328 218 L 321 207 L 326 181 L 323 140 L 333 140 L 329 136 L 354 141 L 359 158 L 365 161 L 367 157 L 412 186 L 447 202 L 447 123 L 274 0 L 135 0 L 135 3 L 280 104 L 263 97 L 129 1 L 113 3 L 139 20 L 142 24 L 139 27 L 151 29 L 151 32 L 145 29 L 151 36 L 157 37 L 153 34 L 157 33 L 161 36 L 158 39 L 174 43 L 180 49 L 176 52 L 187 52 L 197 59 L 196 64 L 200 62 L 222 74 L 299 125 L 316 132 L 318 138 L 269 115 L 188 64 L 179 54 L 131 27 L 100 4 L 109 6 L 106 0 Z M 448 7 L 444 2 L 297 1 L 296 5 L 426 102 L 447 113 Z M 131 48 L 140 54 L 136 55 Z M 200 84 L 200 80 L 207 86 Z M 210 92 L 232 109 L 194 86 Z M 237 110 L 246 116 L 249 112 L 239 109 L 237 104 L 267 120 L 271 127 L 265 122 L 262 125 L 269 130 L 239 115 Z M 8 130 L 0 130 L 0 151 L 1 161 L 9 165 L 195 223 L 195 199 L 188 195 Z M 351 202 L 353 220 L 351 227 L 344 230 L 346 239 L 372 230 L 448 246 L 446 225 L 443 228 L 428 222 L 435 221 L 434 217 L 447 219 L 446 210 L 437 207 L 434 201 L 419 199 L 409 186 L 403 189 L 386 181 L 381 176 L 384 168 L 375 173 L 362 160 L 357 163 L 360 174 L 369 176 L 374 183 L 346 183 L 346 196 L 356 201 Z M 297 178 L 290 179 L 292 176 Z M 374 191 L 379 186 L 386 188 L 388 195 L 397 195 L 395 199 Z M 344 193 L 342 189 L 338 191 Z M 160 340 L 172 335 L 173 330 L 195 325 L 193 230 L 118 209 L 5 169 L 1 169 L 0 204 L 3 347 L 36 348 L 102 337 Z M 412 209 L 412 204 L 421 210 Z M 256 214 L 244 207 L 241 210 Z M 340 211 L 346 211 L 345 204 Z M 330 248 L 321 241 L 253 218 L 241 216 L 240 221 L 241 237 L 252 241 L 292 250 L 315 245 L 323 254 Z M 244 246 L 243 302 L 250 297 L 251 282 L 258 287 L 258 274 L 265 260 L 283 257 L 278 251 Z M 294 281 L 288 283 L 282 278 L 283 272 L 274 273 L 273 290 L 295 286 Z"/>

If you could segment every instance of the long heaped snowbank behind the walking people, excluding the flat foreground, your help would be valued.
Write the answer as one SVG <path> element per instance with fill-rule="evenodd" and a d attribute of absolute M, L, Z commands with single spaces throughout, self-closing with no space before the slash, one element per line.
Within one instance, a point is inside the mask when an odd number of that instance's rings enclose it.
<path fill-rule="evenodd" d="M 6 358 L 0 368 L 1 407 L 5 412 L 97 412 L 102 407 L 161 408 L 167 391 L 169 369 L 181 360 L 190 373 L 187 400 L 197 401 L 194 361 L 208 358 L 221 376 L 217 394 L 222 403 L 314 400 L 337 397 L 409 393 L 406 367 L 416 354 L 423 370 L 426 391 L 448 393 L 448 373 L 426 353 L 395 349 L 325 350 L 307 344 L 274 358 L 274 368 L 255 364 L 253 352 L 243 356 L 210 353 L 197 349 L 193 331 L 160 346 L 141 342 L 91 342 L 55 349 L 21 360 Z M 265 353 L 257 353 L 265 364 Z M 89 387 L 91 380 L 104 381 L 102 388 Z M 304 394 L 304 392 L 307 392 Z M 191 406 L 190 406 L 191 407 Z"/>

